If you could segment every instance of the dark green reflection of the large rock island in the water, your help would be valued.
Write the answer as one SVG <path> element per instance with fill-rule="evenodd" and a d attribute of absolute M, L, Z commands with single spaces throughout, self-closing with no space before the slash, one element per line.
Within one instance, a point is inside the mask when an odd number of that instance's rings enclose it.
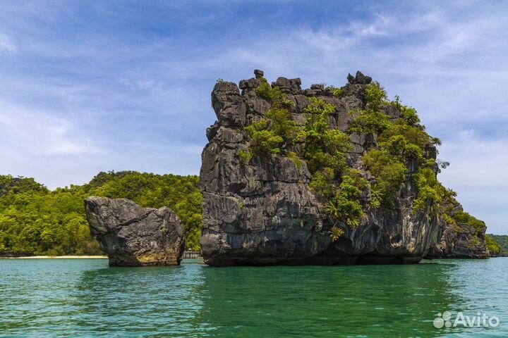
<path fill-rule="evenodd" d="M 205 268 L 199 317 L 224 337 L 432 337 L 456 265 Z M 458 329 L 455 329 L 458 330 Z M 405 332 L 405 333 L 403 333 Z"/>

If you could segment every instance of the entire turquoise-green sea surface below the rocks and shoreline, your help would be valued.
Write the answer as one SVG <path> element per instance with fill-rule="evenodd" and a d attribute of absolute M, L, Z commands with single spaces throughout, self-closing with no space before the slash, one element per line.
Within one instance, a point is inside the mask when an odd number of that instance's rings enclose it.
<path fill-rule="evenodd" d="M 0 337 L 508 337 L 508 258 L 418 265 L 108 268 L 0 260 Z M 442 311 L 497 328 L 437 329 Z"/>

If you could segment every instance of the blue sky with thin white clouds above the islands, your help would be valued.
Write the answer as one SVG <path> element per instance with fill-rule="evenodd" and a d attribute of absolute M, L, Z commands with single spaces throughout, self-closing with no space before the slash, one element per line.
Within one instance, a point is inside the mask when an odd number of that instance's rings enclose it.
<path fill-rule="evenodd" d="M 198 174 L 217 79 L 361 70 L 442 139 L 440 174 L 508 234 L 508 1 L 0 1 L 0 174 Z"/>

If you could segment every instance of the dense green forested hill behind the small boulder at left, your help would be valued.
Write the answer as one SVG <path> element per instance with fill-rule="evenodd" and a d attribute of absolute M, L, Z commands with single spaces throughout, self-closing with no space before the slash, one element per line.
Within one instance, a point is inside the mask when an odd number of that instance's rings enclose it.
<path fill-rule="evenodd" d="M 0 255 L 101 253 L 90 237 L 87 196 L 126 198 L 141 206 L 168 206 L 186 230 L 186 246 L 198 250 L 202 194 L 199 177 L 123 171 L 99 173 L 89 183 L 50 191 L 32 178 L 0 175 Z"/>

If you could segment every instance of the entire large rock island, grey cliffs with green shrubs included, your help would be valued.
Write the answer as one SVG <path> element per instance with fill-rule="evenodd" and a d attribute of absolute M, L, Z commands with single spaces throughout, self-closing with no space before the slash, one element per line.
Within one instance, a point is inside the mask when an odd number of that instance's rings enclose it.
<path fill-rule="evenodd" d="M 344 87 L 263 72 L 217 82 L 200 173 L 210 265 L 417 263 L 485 257 L 485 224 L 437 181 L 416 111 L 368 76 Z"/>

